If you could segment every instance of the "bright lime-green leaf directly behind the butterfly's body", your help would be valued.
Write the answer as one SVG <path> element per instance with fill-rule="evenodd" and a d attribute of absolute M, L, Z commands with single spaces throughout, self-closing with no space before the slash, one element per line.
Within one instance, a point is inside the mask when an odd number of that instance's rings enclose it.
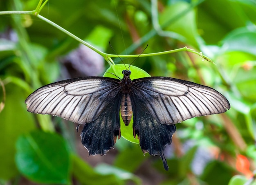
<path fill-rule="evenodd" d="M 117 79 L 119 77 L 120 79 L 122 79 L 124 77 L 124 75 L 122 74 L 122 71 L 125 70 L 126 68 L 128 68 L 129 64 L 125 64 L 125 65 L 126 66 L 124 66 L 124 64 L 112 65 L 112 66 L 110 66 L 110 68 L 108 68 L 108 70 L 106 71 L 106 73 L 103 76 L 117 78 Z M 130 66 L 129 70 L 132 72 L 130 75 L 131 79 L 150 77 L 150 75 L 148 73 L 146 73 L 146 71 L 144 71 L 136 66 Z M 118 77 L 116 77 L 113 74 L 117 75 Z M 121 115 L 120 115 L 120 124 L 121 124 L 121 136 L 124 137 L 124 139 L 127 139 L 128 141 L 130 141 L 132 143 L 139 144 L 139 140 L 135 139 L 133 137 L 133 128 L 132 128 L 133 117 L 132 117 L 130 124 L 128 126 L 125 126 L 124 121 L 121 119 Z"/>

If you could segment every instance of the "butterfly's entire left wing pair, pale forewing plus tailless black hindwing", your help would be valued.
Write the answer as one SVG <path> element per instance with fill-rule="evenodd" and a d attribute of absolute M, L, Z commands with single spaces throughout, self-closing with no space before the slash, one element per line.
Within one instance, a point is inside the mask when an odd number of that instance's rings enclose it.
<path fill-rule="evenodd" d="M 106 154 L 120 138 L 118 79 L 82 77 L 43 86 L 29 95 L 27 110 L 86 123 L 81 139 L 89 154 Z"/>

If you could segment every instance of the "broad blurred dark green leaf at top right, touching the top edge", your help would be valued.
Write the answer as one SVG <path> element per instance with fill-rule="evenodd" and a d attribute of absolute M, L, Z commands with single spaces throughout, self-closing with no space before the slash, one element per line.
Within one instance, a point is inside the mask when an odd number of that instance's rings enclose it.
<path fill-rule="evenodd" d="M 248 18 L 236 1 L 206 0 L 198 6 L 197 20 L 207 44 L 216 44 L 229 31 L 245 26 Z"/>

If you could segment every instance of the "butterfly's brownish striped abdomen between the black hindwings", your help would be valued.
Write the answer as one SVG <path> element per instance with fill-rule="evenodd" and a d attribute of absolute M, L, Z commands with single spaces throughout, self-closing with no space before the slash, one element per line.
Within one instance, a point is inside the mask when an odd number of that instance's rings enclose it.
<path fill-rule="evenodd" d="M 129 94 L 124 94 L 121 99 L 121 117 L 126 126 L 132 119 L 132 104 Z"/>

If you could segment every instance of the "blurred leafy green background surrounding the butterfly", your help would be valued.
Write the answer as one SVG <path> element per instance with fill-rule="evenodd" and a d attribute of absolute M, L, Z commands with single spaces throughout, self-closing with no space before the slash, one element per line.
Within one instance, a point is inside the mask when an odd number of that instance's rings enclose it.
<path fill-rule="evenodd" d="M 0 1 L 0 11 L 31 11 L 38 2 Z M 146 44 L 144 53 L 194 48 L 216 65 L 188 52 L 133 65 L 211 86 L 231 109 L 177 124 L 165 151 L 168 172 L 158 156 L 123 138 L 105 156 L 88 157 L 75 123 L 31 114 L 24 101 L 40 86 L 103 75 L 109 65 L 36 16 L 0 15 L 0 184 L 255 184 L 254 0 L 50 0 L 40 15 L 106 53 L 114 53 L 109 41 L 118 54 Z"/>

